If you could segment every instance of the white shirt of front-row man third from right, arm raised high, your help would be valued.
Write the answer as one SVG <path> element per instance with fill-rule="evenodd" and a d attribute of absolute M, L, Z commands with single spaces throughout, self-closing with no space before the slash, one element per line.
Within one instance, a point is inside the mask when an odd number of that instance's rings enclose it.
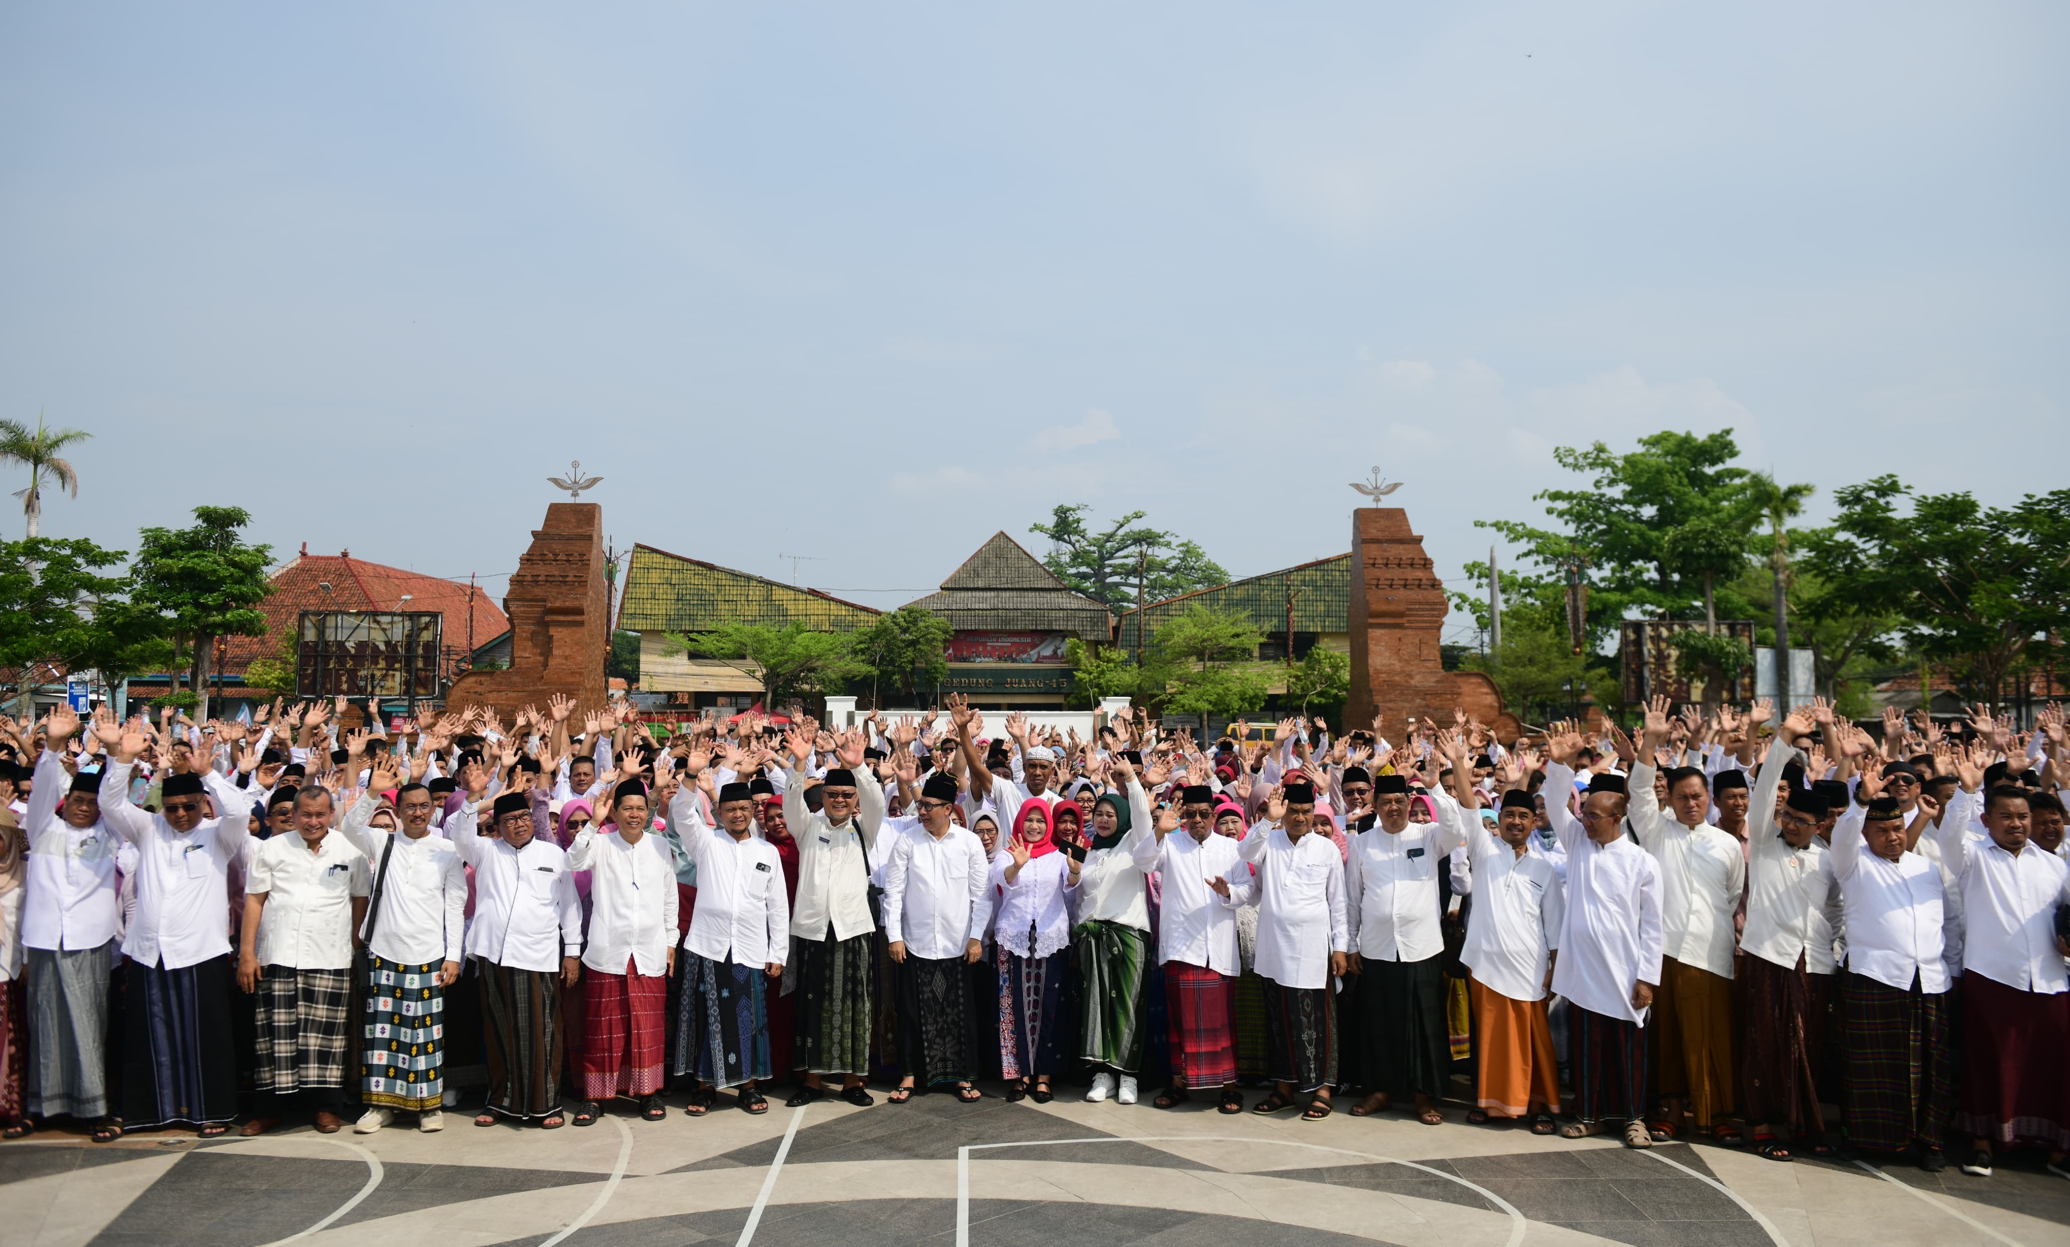
<path fill-rule="evenodd" d="M 1762 759 L 1762 778 L 1747 807 L 1747 929 L 1739 945 L 1747 955 L 1784 970 L 1803 957 L 1811 974 L 1838 970 L 1832 943 L 1840 931 L 1840 881 L 1832 873 L 1832 850 L 1817 835 L 1805 848 L 1791 848 L 1776 829 L 1776 790 L 1782 767 L 1797 751 L 1776 740 Z"/>

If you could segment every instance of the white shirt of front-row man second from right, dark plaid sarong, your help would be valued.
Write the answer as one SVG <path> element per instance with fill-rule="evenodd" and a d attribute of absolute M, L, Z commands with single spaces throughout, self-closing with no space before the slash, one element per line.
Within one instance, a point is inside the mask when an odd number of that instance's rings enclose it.
<path fill-rule="evenodd" d="M 1846 968 L 1927 995 L 1948 991 L 1940 866 L 1917 852 L 1898 860 L 1869 852 L 1857 804 L 1832 829 L 1832 873 L 1846 916 Z"/>

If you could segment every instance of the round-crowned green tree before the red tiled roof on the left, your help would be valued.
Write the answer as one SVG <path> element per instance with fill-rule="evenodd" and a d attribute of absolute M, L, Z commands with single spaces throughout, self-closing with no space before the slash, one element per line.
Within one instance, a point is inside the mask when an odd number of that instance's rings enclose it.
<path fill-rule="evenodd" d="M 250 523 L 242 507 L 195 507 L 193 527 L 147 527 L 139 534 L 132 600 L 166 616 L 176 639 L 193 647 L 190 685 L 197 718 L 209 713 L 209 660 L 217 637 L 263 637 L 259 604 L 273 591 L 265 569 L 271 546 L 238 536 Z M 174 680 L 178 693 L 178 680 Z"/>

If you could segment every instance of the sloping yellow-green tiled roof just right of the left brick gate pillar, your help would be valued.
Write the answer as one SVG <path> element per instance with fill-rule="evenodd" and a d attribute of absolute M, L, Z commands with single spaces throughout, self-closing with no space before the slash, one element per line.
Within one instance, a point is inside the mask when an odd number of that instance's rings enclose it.
<path fill-rule="evenodd" d="M 727 622 L 803 622 L 826 633 L 853 633 L 878 614 L 820 589 L 799 589 L 644 544 L 633 546 L 619 600 L 619 627 L 633 633 L 704 633 Z"/>

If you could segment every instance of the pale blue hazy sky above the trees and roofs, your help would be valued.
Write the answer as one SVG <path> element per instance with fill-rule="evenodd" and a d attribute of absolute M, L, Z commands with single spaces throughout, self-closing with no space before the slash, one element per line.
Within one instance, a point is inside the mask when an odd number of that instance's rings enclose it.
<path fill-rule="evenodd" d="M 876 606 L 1056 503 L 1248 575 L 1550 447 L 2062 484 L 2060 4 L 0 10 L 46 534 L 509 573 L 569 459 Z M 21 482 L 10 480 L 8 490 Z M 19 515 L 0 519 L 19 531 Z M 491 581 L 499 587 L 499 581 Z"/>

